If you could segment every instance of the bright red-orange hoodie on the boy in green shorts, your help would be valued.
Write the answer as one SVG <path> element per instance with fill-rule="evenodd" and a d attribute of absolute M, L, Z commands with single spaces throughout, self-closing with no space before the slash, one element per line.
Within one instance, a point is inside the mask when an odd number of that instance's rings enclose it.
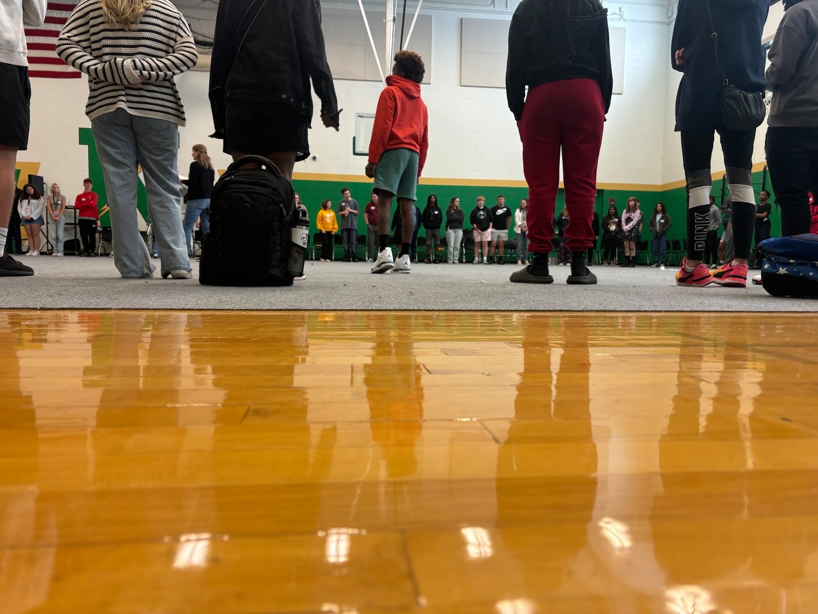
<path fill-rule="evenodd" d="M 391 149 L 415 151 L 420 177 L 429 149 L 429 113 L 420 100 L 420 84 L 397 74 L 386 78 L 386 88 L 380 93 L 369 142 L 369 161 L 378 164 L 384 151 Z"/>

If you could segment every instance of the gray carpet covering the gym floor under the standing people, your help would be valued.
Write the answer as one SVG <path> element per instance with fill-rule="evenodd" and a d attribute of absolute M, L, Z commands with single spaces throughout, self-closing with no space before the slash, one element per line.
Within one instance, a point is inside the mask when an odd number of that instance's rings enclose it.
<path fill-rule="evenodd" d="M 676 287 L 672 269 L 595 266 L 596 286 L 509 282 L 515 264 L 414 264 L 408 275 L 369 273 L 366 263 L 308 262 L 292 287 L 201 286 L 191 280 L 122 279 L 106 257 L 22 257 L 33 278 L 0 278 L 3 309 L 433 309 L 443 311 L 818 311 L 818 300 L 776 299 L 762 287 Z M 157 269 L 159 260 L 155 260 Z M 752 273 L 757 273 L 753 271 Z"/>

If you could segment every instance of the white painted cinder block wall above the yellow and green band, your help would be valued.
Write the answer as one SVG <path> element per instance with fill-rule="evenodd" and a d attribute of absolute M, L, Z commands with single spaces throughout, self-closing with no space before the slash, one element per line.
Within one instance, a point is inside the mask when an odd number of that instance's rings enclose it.
<path fill-rule="evenodd" d="M 625 93 L 614 95 L 605 124 L 599 180 L 658 184 L 679 179 L 681 170 L 671 173 L 667 160 L 663 160 L 667 155 L 663 151 L 667 138 L 663 135 L 672 130 L 672 124 L 667 127 L 666 113 L 671 31 L 666 25 L 667 11 L 656 5 L 622 4 L 622 20 L 616 15 L 620 5 L 608 4 L 612 14 L 610 25 L 627 28 L 626 74 Z M 429 106 L 430 133 L 425 176 L 487 182 L 522 180 L 519 136 L 506 106 L 505 90 L 460 85 L 461 18 L 510 19 L 510 14 L 473 10 L 424 12 L 434 18 L 432 84 L 425 85 L 423 93 Z M 507 42 L 485 44 L 506 46 Z M 191 146 L 196 142 L 204 142 L 219 168 L 225 168 L 228 158 L 220 153 L 221 142 L 207 138 L 213 132 L 208 74 L 200 71 L 183 74 L 178 78 L 178 86 L 187 111 L 187 127 L 180 131 L 182 173 L 187 173 Z M 344 108 L 341 131 L 325 129 L 316 120 L 310 142 L 317 160 L 299 164 L 296 172 L 360 175 L 363 179 L 366 159 L 352 155 L 353 118 L 356 111 L 375 111 L 380 84 L 338 80 L 335 88 Z M 41 163 L 41 173 L 48 182 L 60 182 L 66 193 L 72 193 L 72 189 L 81 187 L 88 174 L 86 148 L 78 144 L 79 127 L 90 127 L 84 115 L 86 81 L 33 79 L 32 89 L 29 151 L 21 153 L 20 160 Z M 667 174 L 672 174 L 672 179 Z"/>

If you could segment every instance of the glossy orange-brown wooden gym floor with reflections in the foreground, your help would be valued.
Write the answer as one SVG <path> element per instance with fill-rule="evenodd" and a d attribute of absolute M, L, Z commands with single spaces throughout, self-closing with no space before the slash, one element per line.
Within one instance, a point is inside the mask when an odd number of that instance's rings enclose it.
<path fill-rule="evenodd" d="M 818 612 L 813 315 L 0 312 L 0 612 Z"/>

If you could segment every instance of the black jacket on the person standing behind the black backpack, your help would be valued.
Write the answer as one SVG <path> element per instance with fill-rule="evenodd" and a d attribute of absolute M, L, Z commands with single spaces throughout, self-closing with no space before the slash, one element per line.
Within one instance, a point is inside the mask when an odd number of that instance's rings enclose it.
<path fill-rule="evenodd" d="M 317 4 L 309 0 L 218 3 L 209 93 L 214 137 L 224 136 L 228 98 L 285 102 L 311 120 L 310 78 L 321 99 L 321 114 L 338 113 Z"/>

